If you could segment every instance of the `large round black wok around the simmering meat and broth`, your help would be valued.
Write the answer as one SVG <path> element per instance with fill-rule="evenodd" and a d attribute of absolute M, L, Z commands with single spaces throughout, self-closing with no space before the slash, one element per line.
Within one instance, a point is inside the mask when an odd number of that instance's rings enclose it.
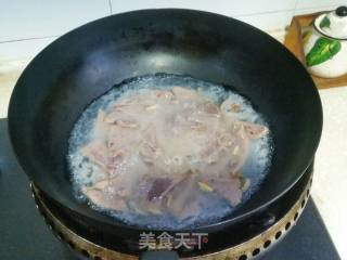
<path fill-rule="evenodd" d="M 129 245 L 143 229 L 75 199 L 67 139 L 91 101 L 125 79 L 155 73 L 232 88 L 270 122 L 274 153 L 260 188 L 231 216 L 194 231 L 218 234 L 268 210 L 310 165 L 322 129 L 319 94 L 306 69 L 274 39 L 242 22 L 198 11 L 145 10 L 105 17 L 59 38 L 15 86 L 9 108 L 14 151 L 48 197 L 100 232 L 110 247 L 131 253 L 137 251 Z"/>

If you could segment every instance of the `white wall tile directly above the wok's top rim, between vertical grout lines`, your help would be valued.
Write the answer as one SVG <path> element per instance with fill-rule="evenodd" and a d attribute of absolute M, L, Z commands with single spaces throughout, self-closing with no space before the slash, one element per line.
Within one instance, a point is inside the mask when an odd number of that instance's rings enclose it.
<path fill-rule="evenodd" d="M 113 13 L 121 13 L 139 9 L 184 8 L 197 9 L 229 16 L 249 15 L 275 11 L 294 10 L 296 0 L 111 0 Z"/>

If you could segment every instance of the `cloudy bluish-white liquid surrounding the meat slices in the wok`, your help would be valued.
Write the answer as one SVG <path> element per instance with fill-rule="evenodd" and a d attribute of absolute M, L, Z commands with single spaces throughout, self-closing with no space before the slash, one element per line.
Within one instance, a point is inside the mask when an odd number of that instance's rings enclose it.
<path fill-rule="evenodd" d="M 111 104 L 119 98 L 133 96 L 149 90 L 170 90 L 172 87 L 180 86 L 187 89 L 198 90 L 214 103 L 220 105 L 224 100 L 230 99 L 233 103 L 240 105 L 237 120 L 244 120 L 268 126 L 265 118 L 259 115 L 249 101 L 240 94 L 226 90 L 222 86 L 197 80 L 187 76 L 176 75 L 153 75 L 127 80 L 120 84 L 114 86 L 108 92 L 94 100 L 81 114 L 80 118 L 74 126 L 69 138 L 69 151 L 67 156 L 68 166 L 72 173 L 72 182 L 75 187 L 76 198 L 81 203 L 87 202 L 90 207 L 103 213 L 110 214 L 117 220 L 130 225 L 145 226 L 149 229 L 183 229 L 196 227 L 202 224 L 211 223 L 230 214 L 234 207 L 230 206 L 224 199 L 216 194 L 201 193 L 197 197 L 203 205 L 197 216 L 179 220 L 170 214 L 149 214 L 143 216 L 131 211 L 116 211 L 99 207 L 91 203 L 81 192 L 83 186 L 91 185 L 101 180 L 103 176 L 98 171 L 98 166 L 86 159 L 80 153 L 80 147 L 93 140 L 93 123 L 100 109 L 110 109 Z M 243 194 L 242 205 L 258 188 L 259 184 L 267 174 L 270 165 L 272 143 L 270 134 L 256 139 L 250 143 L 248 158 L 242 168 L 242 174 L 249 178 L 250 186 Z M 236 207 L 239 207 L 237 205 Z"/>

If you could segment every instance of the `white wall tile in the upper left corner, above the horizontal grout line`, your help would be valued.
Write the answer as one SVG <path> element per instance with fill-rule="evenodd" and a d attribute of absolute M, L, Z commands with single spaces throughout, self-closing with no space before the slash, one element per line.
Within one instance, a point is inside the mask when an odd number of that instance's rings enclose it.
<path fill-rule="evenodd" d="M 108 0 L 0 1 L 0 42 L 62 35 L 110 14 Z"/>

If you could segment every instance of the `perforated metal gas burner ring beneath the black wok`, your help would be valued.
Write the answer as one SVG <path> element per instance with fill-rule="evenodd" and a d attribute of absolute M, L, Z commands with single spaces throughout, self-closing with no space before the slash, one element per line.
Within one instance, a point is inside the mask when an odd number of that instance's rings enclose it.
<path fill-rule="evenodd" d="M 312 170 L 308 170 L 296 184 L 296 186 L 300 184 L 301 188 L 297 193 L 298 196 L 293 202 L 292 207 L 288 208 L 282 218 L 270 223 L 265 231 L 256 234 L 250 239 L 222 251 L 182 259 L 248 260 L 258 258 L 273 247 L 273 245 L 279 243 L 295 225 L 308 200 L 311 183 Z M 54 210 L 54 207 L 50 204 L 49 199 L 44 197 L 44 194 L 40 192 L 34 183 L 30 185 L 37 208 L 43 216 L 46 223 L 57 238 L 67 244 L 72 249 L 86 258 L 94 260 L 138 259 L 138 256 L 111 250 L 102 245 L 97 245 L 87 237 L 83 237 L 69 229 L 68 224 L 66 224 L 67 222 L 64 221 L 63 214 L 60 214 Z M 292 188 L 295 188 L 295 186 Z"/>

